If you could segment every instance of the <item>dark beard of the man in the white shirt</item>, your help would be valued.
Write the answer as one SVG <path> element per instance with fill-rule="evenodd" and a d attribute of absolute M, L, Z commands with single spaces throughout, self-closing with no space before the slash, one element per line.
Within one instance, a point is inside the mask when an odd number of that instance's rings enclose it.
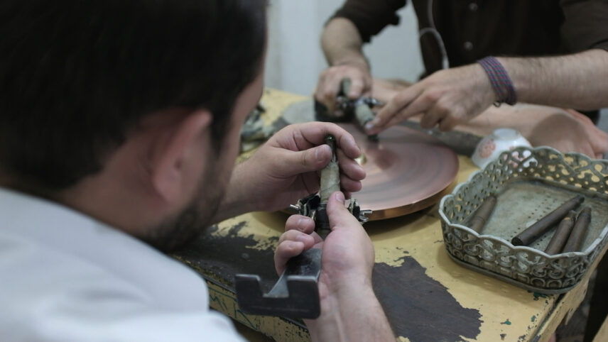
<path fill-rule="evenodd" d="M 200 180 L 195 198 L 179 214 L 165 219 L 148 231 L 141 240 L 163 252 L 177 250 L 199 236 L 210 226 L 219 204 L 224 198 L 231 172 L 216 172 L 212 167 Z"/>

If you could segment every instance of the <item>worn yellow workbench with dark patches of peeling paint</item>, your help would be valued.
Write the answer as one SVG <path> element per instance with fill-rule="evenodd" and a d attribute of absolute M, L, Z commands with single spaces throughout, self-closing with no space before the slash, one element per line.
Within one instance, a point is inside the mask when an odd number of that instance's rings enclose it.
<path fill-rule="evenodd" d="M 311 101 L 266 90 L 265 123 L 306 100 Z M 455 183 L 477 170 L 467 156 L 459 155 L 459 161 Z M 306 341 L 301 322 L 243 314 L 234 295 L 237 273 L 259 274 L 267 285 L 276 281 L 272 255 L 286 217 L 237 216 L 213 226 L 175 257 L 205 277 L 214 309 L 277 341 Z M 567 294 L 536 294 L 457 265 L 445 251 L 437 206 L 365 228 L 376 250 L 374 289 L 402 341 L 546 341 L 587 289 L 588 277 Z"/>

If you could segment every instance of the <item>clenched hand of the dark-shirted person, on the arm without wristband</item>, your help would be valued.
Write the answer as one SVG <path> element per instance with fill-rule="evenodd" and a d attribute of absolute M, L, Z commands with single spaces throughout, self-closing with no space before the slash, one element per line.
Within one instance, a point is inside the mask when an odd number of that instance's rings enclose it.
<path fill-rule="evenodd" d="M 371 75 L 369 67 L 362 62 L 337 65 L 329 67 L 319 75 L 315 99 L 327 106 L 327 111 L 333 113 L 336 110 L 336 97 L 340 92 L 342 79 L 350 79 L 350 90 L 346 94 L 349 99 L 358 99 L 361 96 L 371 94 Z"/>

